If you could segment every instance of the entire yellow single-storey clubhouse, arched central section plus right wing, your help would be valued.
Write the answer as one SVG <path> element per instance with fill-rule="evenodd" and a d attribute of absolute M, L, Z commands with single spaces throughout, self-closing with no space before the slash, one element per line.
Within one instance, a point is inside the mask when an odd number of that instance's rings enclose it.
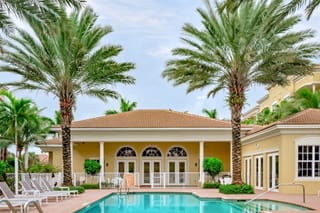
<path fill-rule="evenodd" d="M 59 132 L 59 128 L 54 128 Z M 257 189 L 297 193 L 320 190 L 320 110 L 300 112 L 281 122 L 252 129 L 242 126 L 243 180 Z M 205 157 L 222 160 L 230 173 L 231 124 L 169 110 L 135 110 L 75 121 L 71 126 L 72 172 L 84 175 L 84 161 L 97 160 L 103 181 L 133 174 L 134 185 L 166 187 L 203 183 Z M 61 142 L 41 146 L 49 162 L 62 167 Z M 310 156 L 312 155 L 312 156 Z"/>

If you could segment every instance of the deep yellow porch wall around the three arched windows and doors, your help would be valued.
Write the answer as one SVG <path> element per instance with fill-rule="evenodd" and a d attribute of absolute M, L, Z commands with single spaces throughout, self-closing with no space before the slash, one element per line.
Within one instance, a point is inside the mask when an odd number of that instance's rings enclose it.
<path fill-rule="evenodd" d="M 105 172 L 116 171 L 116 153 L 123 146 L 129 146 L 136 151 L 136 171 L 141 171 L 142 152 L 147 147 L 157 147 L 161 153 L 162 171 L 168 171 L 166 154 L 171 147 L 180 146 L 187 152 L 187 168 L 189 172 L 199 171 L 199 142 L 106 142 L 104 144 Z M 100 145 L 97 142 L 75 143 L 73 148 L 73 168 L 75 172 L 84 172 L 85 159 L 99 159 Z M 217 157 L 223 161 L 224 171 L 230 171 L 230 146 L 227 142 L 205 142 L 204 157 Z"/>

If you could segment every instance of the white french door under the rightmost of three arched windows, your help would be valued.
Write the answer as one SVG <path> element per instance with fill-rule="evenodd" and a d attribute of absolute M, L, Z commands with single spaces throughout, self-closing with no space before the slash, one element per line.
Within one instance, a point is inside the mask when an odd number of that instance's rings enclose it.
<path fill-rule="evenodd" d="M 169 185 L 183 185 L 186 183 L 186 160 L 169 160 Z"/>

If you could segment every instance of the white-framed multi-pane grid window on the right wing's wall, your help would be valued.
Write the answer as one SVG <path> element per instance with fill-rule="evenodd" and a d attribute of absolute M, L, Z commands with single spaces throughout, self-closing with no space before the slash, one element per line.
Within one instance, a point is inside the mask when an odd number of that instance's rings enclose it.
<path fill-rule="evenodd" d="M 298 177 L 320 177 L 320 145 L 298 146 Z"/>

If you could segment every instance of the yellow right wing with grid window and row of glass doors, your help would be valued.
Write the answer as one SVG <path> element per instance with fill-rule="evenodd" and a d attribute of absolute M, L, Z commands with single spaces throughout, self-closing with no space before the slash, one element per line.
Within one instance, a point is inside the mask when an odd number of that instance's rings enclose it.
<path fill-rule="evenodd" d="M 320 110 L 308 109 L 249 131 L 242 138 L 242 159 L 243 180 L 256 189 L 302 193 L 303 185 L 307 194 L 316 194 L 320 190 Z"/>

